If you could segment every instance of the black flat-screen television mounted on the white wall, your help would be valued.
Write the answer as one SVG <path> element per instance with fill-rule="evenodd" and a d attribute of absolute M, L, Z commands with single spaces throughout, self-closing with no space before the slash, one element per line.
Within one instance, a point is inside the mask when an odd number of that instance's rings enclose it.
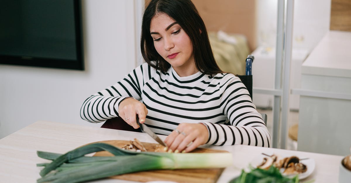
<path fill-rule="evenodd" d="M 0 2 L 0 64 L 84 70 L 80 0 Z"/>

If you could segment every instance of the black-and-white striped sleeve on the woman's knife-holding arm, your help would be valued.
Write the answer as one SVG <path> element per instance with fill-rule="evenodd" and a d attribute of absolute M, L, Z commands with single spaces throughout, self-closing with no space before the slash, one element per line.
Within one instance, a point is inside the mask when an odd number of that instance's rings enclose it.
<path fill-rule="evenodd" d="M 150 66 L 143 64 L 126 75 L 122 80 L 111 87 L 103 89 L 88 97 L 80 109 L 83 120 L 99 123 L 117 117 L 118 106 L 127 97 L 141 100 L 141 91 L 144 85 L 144 71 L 150 73 Z"/>

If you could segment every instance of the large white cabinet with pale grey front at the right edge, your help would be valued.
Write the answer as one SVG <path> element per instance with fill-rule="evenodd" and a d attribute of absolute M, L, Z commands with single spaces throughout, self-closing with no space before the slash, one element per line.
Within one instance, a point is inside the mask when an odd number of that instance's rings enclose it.
<path fill-rule="evenodd" d="M 298 150 L 350 154 L 351 32 L 330 31 L 302 65 Z"/>

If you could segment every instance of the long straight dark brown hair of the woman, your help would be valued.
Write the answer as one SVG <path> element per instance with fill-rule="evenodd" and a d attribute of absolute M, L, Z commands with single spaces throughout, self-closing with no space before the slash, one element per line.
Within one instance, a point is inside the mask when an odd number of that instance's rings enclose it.
<path fill-rule="evenodd" d="M 140 48 L 144 60 L 156 69 L 166 72 L 171 65 L 159 55 L 150 34 L 151 19 L 165 13 L 183 28 L 189 36 L 196 68 L 204 74 L 223 73 L 214 60 L 204 21 L 190 0 L 152 0 L 146 7 L 141 25 Z M 155 62 L 152 62 L 155 61 Z"/>

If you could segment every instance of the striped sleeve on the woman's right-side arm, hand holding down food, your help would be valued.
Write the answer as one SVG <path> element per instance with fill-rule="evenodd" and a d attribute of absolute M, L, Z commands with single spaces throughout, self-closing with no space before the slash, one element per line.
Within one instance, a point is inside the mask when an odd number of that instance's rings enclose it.
<path fill-rule="evenodd" d="M 204 122 L 209 131 L 207 143 L 270 147 L 271 137 L 268 129 L 240 79 L 226 75 L 221 81 L 221 86 L 224 89 L 221 96 L 221 110 L 228 117 L 230 124 Z"/>

